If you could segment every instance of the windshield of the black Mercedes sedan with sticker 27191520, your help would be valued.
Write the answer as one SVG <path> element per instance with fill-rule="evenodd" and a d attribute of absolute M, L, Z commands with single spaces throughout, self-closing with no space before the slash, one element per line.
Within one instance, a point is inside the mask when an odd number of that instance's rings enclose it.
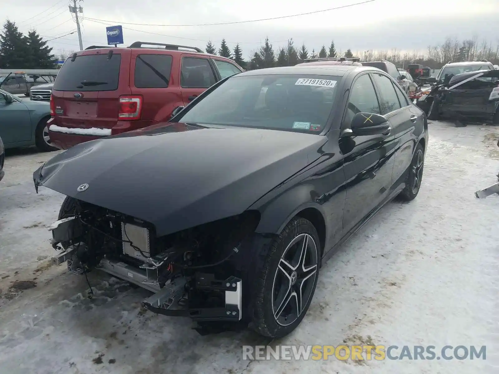
<path fill-rule="evenodd" d="M 320 133 L 327 124 L 340 78 L 234 76 L 176 121 Z"/>

